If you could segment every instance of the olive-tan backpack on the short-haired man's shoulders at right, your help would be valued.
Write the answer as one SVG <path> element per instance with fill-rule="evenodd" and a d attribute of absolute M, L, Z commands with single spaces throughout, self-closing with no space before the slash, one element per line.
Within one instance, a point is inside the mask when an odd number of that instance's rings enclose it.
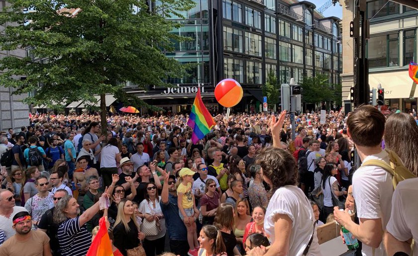
<path fill-rule="evenodd" d="M 405 165 L 402 163 L 402 160 L 399 156 L 388 149 L 385 151 L 389 154 L 389 161 L 390 165 L 387 164 L 385 161 L 372 159 L 364 162 L 361 166 L 377 166 L 382 168 L 383 170 L 392 174 L 393 178 L 393 188 L 395 189 L 399 182 L 405 180 L 407 178 L 416 178 L 417 176 L 414 175 L 410 170 L 408 170 Z"/>

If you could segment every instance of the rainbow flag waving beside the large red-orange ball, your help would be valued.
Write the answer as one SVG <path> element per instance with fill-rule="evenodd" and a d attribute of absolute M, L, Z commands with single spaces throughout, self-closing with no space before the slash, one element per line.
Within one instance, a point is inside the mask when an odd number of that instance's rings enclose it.
<path fill-rule="evenodd" d="M 189 121 L 187 121 L 187 125 L 193 128 L 193 144 L 196 144 L 199 140 L 202 140 L 205 135 L 210 132 L 210 129 L 212 129 L 215 124 L 215 120 L 213 120 L 213 117 L 205 107 L 205 104 L 203 104 L 200 90 L 198 90 L 195 102 L 193 102 Z"/>

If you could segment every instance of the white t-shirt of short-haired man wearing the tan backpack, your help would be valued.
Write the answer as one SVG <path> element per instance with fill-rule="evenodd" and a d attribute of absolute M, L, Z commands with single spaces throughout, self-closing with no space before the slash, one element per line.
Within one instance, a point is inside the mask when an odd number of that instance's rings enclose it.
<path fill-rule="evenodd" d="M 389 156 L 382 150 L 379 154 L 368 156 L 367 160 L 378 159 L 389 164 Z M 379 167 L 362 166 L 353 174 L 353 196 L 357 206 L 357 215 L 364 219 L 382 219 L 382 228 L 386 230 L 392 209 L 392 175 Z M 371 247 L 363 244 L 363 256 L 373 255 Z M 386 256 L 383 243 L 375 250 L 375 256 Z"/>

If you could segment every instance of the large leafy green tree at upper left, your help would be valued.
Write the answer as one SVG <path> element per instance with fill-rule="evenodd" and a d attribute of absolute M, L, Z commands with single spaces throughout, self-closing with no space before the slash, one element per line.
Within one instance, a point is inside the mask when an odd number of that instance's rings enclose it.
<path fill-rule="evenodd" d="M 144 102 L 122 90 L 123 83 L 167 86 L 169 77 L 184 75 L 185 67 L 161 53 L 172 50 L 182 38 L 170 33 L 180 24 L 167 17 L 181 16 L 194 6 L 192 0 L 9 0 L 0 12 L 5 26 L 1 50 L 31 47 L 44 60 L 5 57 L 0 60 L 0 82 L 32 92 L 26 103 L 68 104 L 95 102 L 101 96 L 101 123 L 106 128 L 105 93 L 126 105 Z M 158 3 L 158 4 L 157 4 Z M 150 10 L 149 4 L 155 6 Z M 23 7 L 27 11 L 22 11 Z M 74 11 L 76 9 L 76 11 Z M 6 26 L 14 24 L 13 26 Z M 14 76 L 26 76 L 16 80 Z M 41 85 L 41 86 L 40 86 Z"/>

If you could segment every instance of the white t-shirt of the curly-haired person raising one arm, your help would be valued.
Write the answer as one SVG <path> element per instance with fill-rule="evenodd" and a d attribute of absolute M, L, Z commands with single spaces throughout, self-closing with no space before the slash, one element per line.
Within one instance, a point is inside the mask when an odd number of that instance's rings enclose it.
<path fill-rule="evenodd" d="M 264 230 L 272 244 L 275 240 L 273 219 L 276 214 L 286 214 L 292 220 L 292 232 L 287 255 L 301 256 L 312 235 L 314 235 L 314 239 L 308 256 L 321 255 L 316 230 L 314 231 L 314 222 L 316 221 L 314 211 L 308 198 L 300 188 L 287 185 L 274 192 L 264 219 Z"/>

